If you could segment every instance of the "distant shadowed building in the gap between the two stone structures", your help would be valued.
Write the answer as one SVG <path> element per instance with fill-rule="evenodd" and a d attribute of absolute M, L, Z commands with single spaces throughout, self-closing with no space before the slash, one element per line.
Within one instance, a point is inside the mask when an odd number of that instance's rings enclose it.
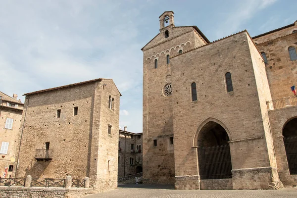
<path fill-rule="evenodd" d="M 142 133 L 119 130 L 118 178 L 142 172 Z"/>

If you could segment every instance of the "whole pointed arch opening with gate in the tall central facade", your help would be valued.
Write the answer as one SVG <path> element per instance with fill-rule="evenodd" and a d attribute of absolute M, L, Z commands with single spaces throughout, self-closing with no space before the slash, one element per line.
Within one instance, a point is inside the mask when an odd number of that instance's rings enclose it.
<path fill-rule="evenodd" d="M 207 122 L 197 141 L 200 179 L 232 178 L 230 139 L 224 127 L 214 121 Z"/>

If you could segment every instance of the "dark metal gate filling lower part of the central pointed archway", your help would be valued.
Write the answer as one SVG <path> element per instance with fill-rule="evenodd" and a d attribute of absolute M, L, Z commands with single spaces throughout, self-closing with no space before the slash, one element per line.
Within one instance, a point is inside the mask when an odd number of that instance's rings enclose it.
<path fill-rule="evenodd" d="M 200 179 L 232 178 L 229 145 L 198 148 Z"/>

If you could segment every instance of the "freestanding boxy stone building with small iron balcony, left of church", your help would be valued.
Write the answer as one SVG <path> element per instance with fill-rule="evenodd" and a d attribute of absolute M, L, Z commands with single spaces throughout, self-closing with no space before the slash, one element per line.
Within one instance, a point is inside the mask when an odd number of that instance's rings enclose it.
<path fill-rule="evenodd" d="M 120 96 L 110 79 L 25 94 L 16 177 L 90 178 L 117 188 Z"/>

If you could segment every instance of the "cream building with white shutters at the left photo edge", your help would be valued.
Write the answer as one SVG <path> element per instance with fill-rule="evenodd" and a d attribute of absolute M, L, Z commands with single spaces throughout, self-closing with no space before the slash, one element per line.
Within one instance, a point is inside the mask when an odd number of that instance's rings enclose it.
<path fill-rule="evenodd" d="M 0 177 L 13 178 L 21 139 L 20 125 L 24 104 L 17 95 L 0 92 Z"/>

